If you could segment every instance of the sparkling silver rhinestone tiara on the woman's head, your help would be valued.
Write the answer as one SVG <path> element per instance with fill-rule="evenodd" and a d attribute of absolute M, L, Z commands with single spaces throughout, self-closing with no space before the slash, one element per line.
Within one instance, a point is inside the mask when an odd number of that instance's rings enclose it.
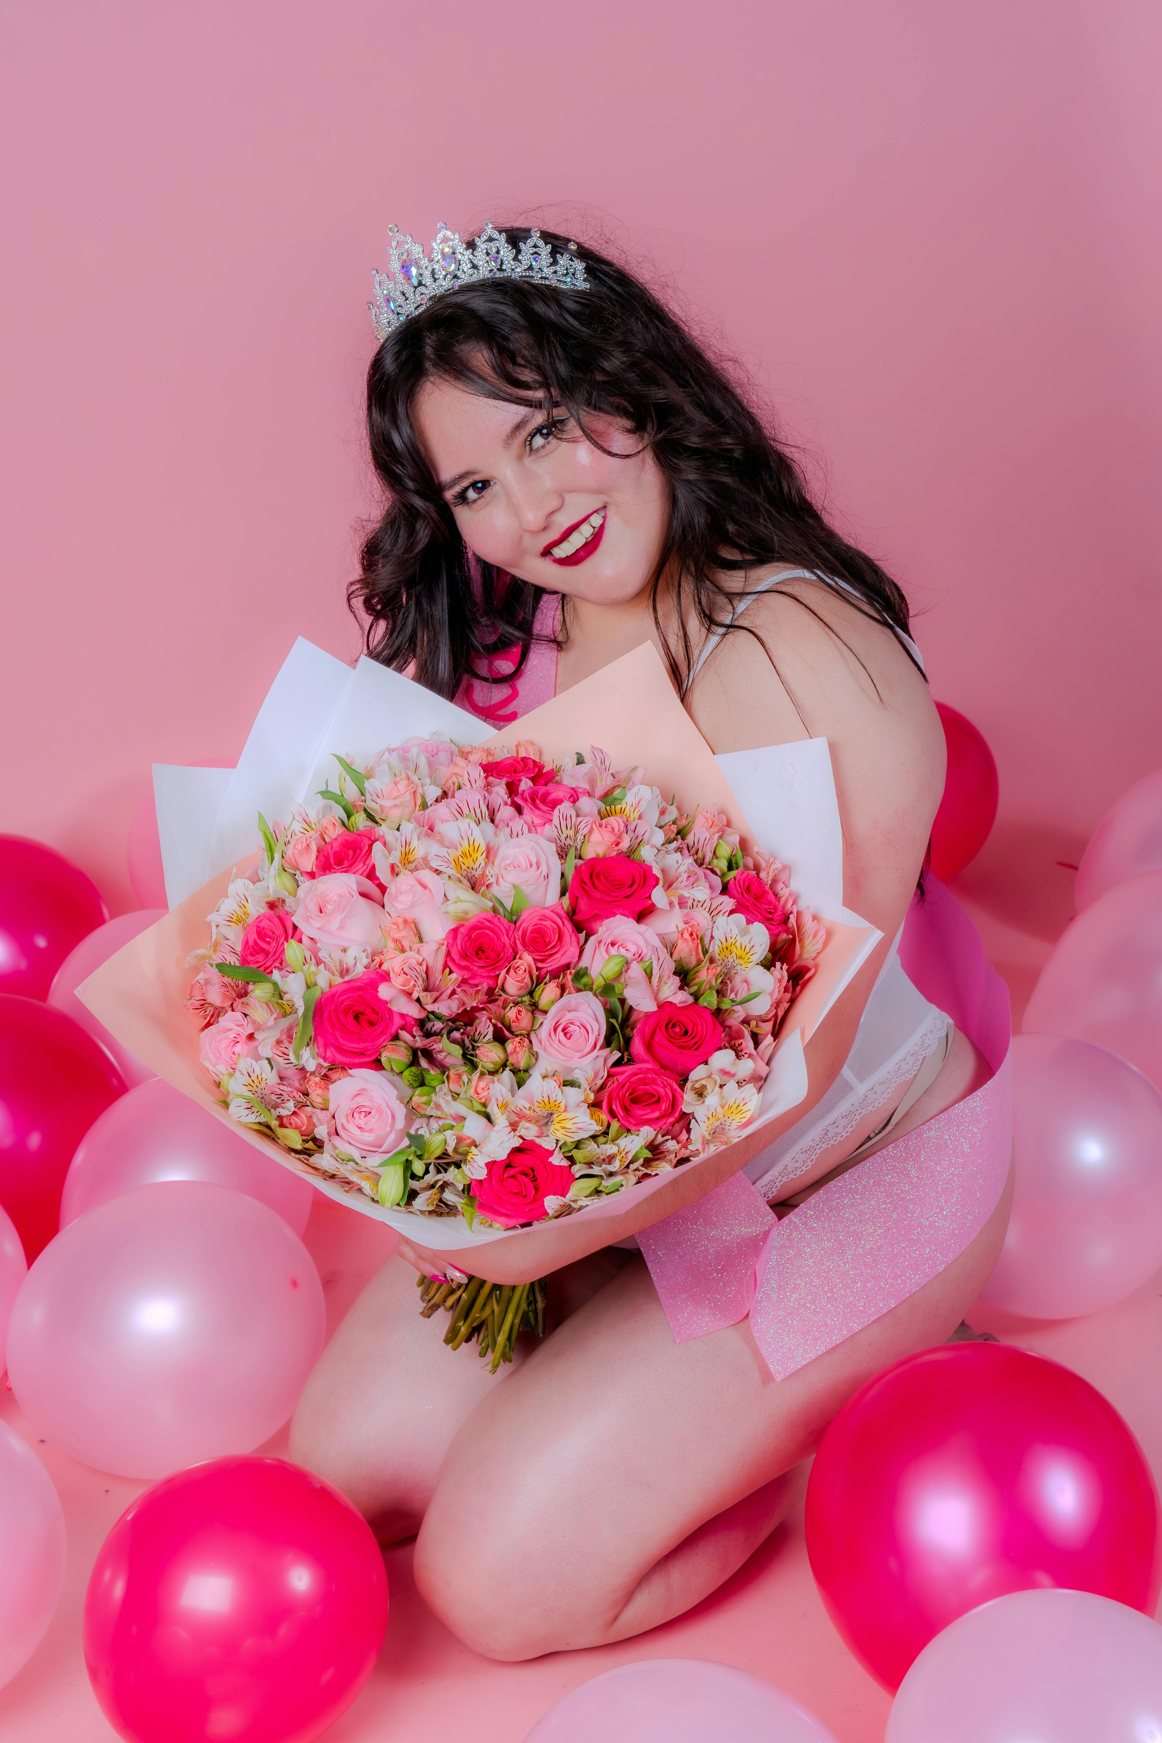
<path fill-rule="evenodd" d="M 380 340 L 409 315 L 427 309 L 432 298 L 479 279 L 531 279 L 535 284 L 554 284 L 559 291 L 589 289 L 577 242 L 570 242 L 554 260 L 540 230 L 530 230 L 517 253 L 491 223 L 484 225 L 472 249 L 443 223 L 432 242 L 430 260 L 399 225 L 388 223 L 387 234 L 392 239 L 392 263 L 387 272 L 371 275 L 375 302 L 368 303 Z"/>

